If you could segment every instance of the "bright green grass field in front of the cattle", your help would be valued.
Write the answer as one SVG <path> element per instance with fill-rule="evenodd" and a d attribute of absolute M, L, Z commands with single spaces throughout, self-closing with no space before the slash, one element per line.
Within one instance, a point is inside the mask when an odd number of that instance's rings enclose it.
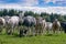
<path fill-rule="evenodd" d="M 66 34 L 37 35 L 19 37 L 16 35 L 0 35 L 0 44 L 66 44 Z"/>

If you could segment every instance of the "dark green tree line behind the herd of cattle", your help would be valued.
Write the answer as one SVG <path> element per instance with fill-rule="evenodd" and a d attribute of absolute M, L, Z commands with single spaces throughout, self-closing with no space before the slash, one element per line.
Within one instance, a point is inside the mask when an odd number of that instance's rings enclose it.
<path fill-rule="evenodd" d="M 22 13 L 23 11 L 20 11 L 20 10 L 14 10 L 14 9 L 11 9 L 11 10 L 7 10 L 7 9 L 3 9 L 3 10 L 0 10 L 0 16 L 4 16 L 4 15 L 19 15 L 20 13 Z M 57 14 L 57 13 L 46 13 L 46 12 L 42 12 L 41 14 L 38 13 L 34 13 L 33 11 L 25 11 L 24 12 L 24 16 L 26 15 L 32 15 L 32 16 L 42 16 L 44 18 L 47 22 L 53 22 L 54 19 L 58 19 L 61 22 L 65 22 L 66 21 L 66 15 L 62 15 L 62 14 Z"/>

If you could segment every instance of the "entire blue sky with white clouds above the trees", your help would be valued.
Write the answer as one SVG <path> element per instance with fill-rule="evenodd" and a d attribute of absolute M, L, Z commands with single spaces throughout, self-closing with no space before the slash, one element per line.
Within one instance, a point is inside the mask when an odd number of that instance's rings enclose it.
<path fill-rule="evenodd" d="M 0 9 L 66 14 L 66 0 L 0 0 Z"/>

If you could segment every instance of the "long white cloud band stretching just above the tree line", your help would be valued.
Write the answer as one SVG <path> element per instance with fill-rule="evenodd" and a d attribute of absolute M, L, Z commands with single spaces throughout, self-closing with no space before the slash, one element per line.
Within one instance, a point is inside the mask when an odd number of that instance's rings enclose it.
<path fill-rule="evenodd" d="M 66 7 L 45 7 L 45 8 L 40 8 L 40 7 L 22 7 L 20 4 L 0 4 L 0 9 L 15 9 L 15 10 L 22 10 L 22 11 L 33 11 L 36 13 L 41 12 L 47 12 L 47 13 L 61 13 L 66 14 Z"/>

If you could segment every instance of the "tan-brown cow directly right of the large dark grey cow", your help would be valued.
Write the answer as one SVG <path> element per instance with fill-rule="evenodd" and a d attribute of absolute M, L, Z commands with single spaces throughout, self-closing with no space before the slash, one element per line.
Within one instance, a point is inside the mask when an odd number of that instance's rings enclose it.
<path fill-rule="evenodd" d="M 36 34 L 43 34 L 44 30 L 45 30 L 45 19 L 37 16 L 36 18 L 36 25 L 35 25 L 35 30 L 36 30 Z"/>

